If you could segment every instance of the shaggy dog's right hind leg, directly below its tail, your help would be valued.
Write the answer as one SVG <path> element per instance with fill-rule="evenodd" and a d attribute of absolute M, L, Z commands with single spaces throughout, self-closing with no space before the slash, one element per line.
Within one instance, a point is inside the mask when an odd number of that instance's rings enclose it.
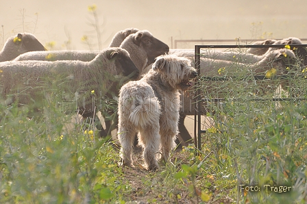
<path fill-rule="evenodd" d="M 145 168 L 148 170 L 155 170 L 159 168 L 156 153 L 159 151 L 160 146 L 160 134 L 159 124 L 153 124 L 140 130 L 139 143 L 143 146 L 143 157 L 145 161 Z"/>

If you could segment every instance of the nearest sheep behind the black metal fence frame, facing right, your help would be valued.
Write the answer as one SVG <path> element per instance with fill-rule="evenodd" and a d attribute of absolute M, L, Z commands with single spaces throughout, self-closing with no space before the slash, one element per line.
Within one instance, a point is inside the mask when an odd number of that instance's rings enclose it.
<path fill-rule="evenodd" d="M 193 58 L 192 58 L 193 60 Z M 268 71 L 271 70 L 271 68 L 276 69 L 275 75 L 282 75 L 287 73 L 287 67 L 291 66 L 291 64 L 295 64 L 293 60 L 297 60 L 295 57 L 295 54 L 293 51 L 288 49 L 278 49 L 275 51 L 271 51 L 269 53 L 266 53 L 265 57 L 260 60 L 260 62 L 256 62 L 255 64 L 242 64 L 238 62 L 230 62 L 226 60 L 214 60 L 210 58 L 201 58 L 201 76 L 204 77 L 217 77 L 217 76 L 229 76 L 234 77 L 238 75 L 238 73 L 245 71 L 248 72 L 249 75 L 266 75 Z M 233 75 L 232 75 L 233 74 Z M 269 75 L 268 75 L 269 76 Z M 264 94 L 264 92 L 267 92 L 269 89 L 268 84 L 266 84 L 267 80 L 264 81 L 258 81 L 258 84 L 260 84 L 260 93 Z M 271 81 L 270 81 L 271 82 Z M 224 87 L 223 81 L 202 81 L 201 82 L 201 90 L 206 91 L 204 95 L 206 97 L 209 97 L 214 92 L 219 92 L 219 97 L 225 97 L 225 93 L 228 93 L 230 90 L 225 90 L 224 92 L 220 89 L 223 89 Z M 214 97 L 216 97 L 214 95 Z M 195 114 L 195 109 L 193 108 L 194 105 L 192 104 L 194 101 L 194 95 L 193 93 L 189 94 L 182 94 L 182 109 L 180 111 L 180 120 L 179 120 L 179 131 L 180 131 L 180 137 L 184 141 L 191 141 L 191 136 L 188 133 L 186 127 L 184 126 L 184 119 L 187 115 L 193 115 Z M 202 113 L 206 113 L 206 107 L 201 106 L 199 107 L 199 110 Z"/>

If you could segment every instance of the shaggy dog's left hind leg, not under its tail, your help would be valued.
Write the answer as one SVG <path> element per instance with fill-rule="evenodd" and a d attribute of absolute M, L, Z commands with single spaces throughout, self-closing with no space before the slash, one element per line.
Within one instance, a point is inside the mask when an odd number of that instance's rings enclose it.
<path fill-rule="evenodd" d="M 133 141 L 136 130 L 133 128 L 119 127 L 119 142 L 121 142 L 121 165 L 134 167 L 132 160 Z"/>

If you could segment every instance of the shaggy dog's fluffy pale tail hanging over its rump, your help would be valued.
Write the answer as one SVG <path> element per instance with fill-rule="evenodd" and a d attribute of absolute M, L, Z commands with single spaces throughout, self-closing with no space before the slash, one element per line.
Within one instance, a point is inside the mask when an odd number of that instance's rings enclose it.
<path fill-rule="evenodd" d="M 147 125 L 157 123 L 160 119 L 161 108 L 156 97 L 147 98 L 143 103 L 136 106 L 129 116 L 132 123 L 145 128 Z"/>

